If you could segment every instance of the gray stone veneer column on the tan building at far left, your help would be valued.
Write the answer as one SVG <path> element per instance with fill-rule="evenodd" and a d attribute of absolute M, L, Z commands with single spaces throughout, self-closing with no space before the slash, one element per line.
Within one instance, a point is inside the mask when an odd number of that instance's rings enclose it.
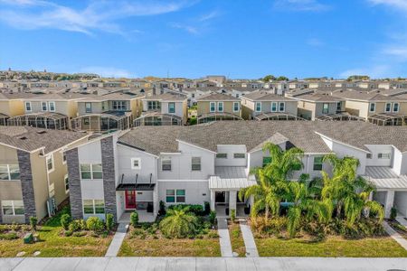
<path fill-rule="evenodd" d="M 20 166 L 21 190 L 24 202 L 25 223 L 30 222 L 30 217 L 36 217 L 35 195 L 33 191 L 33 172 L 31 170 L 30 153 L 17 150 L 18 164 Z"/>

